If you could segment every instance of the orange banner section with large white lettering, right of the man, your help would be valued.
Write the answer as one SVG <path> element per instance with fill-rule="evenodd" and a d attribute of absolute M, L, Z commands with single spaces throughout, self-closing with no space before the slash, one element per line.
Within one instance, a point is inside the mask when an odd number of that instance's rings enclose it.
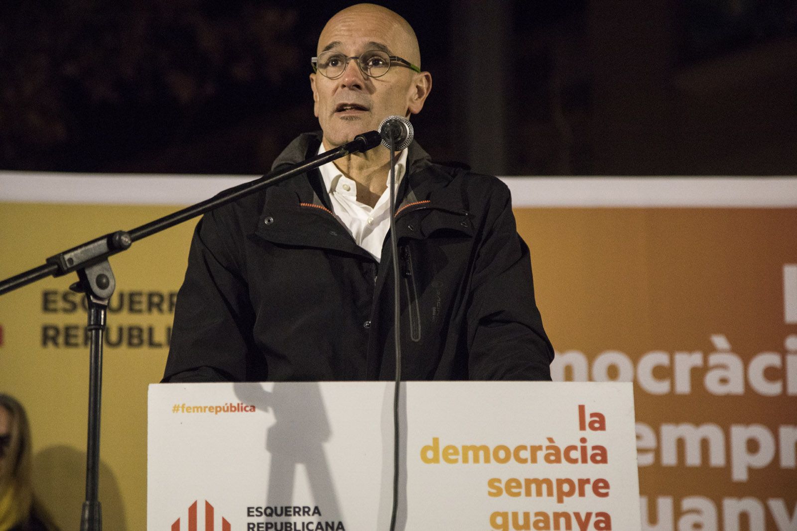
<path fill-rule="evenodd" d="M 554 378 L 634 381 L 642 529 L 795 529 L 797 209 L 516 215 Z"/>

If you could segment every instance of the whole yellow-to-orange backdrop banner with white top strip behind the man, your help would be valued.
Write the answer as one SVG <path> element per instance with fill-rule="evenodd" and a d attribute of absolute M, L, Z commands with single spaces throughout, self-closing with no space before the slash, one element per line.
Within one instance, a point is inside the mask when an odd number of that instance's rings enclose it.
<path fill-rule="evenodd" d="M 245 178 L 0 173 L 0 277 Z M 633 381 L 642 529 L 797 529 L 797 178 L 508 178 L 557 380 Z M 111 264 L 100 500 L 145 528 L 147 385 L 195 222 Z M 72 277 L 0 298 L 0 389 L 37 490 L 77 529 L 88 394 Z M 544 399 L 540 399 L 544 407 Z"/>

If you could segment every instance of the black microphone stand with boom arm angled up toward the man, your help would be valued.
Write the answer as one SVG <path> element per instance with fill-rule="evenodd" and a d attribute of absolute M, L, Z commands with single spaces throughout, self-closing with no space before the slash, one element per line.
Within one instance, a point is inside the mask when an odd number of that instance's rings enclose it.
<path fill-rule="evenodd" d="M 133 242 L 171 228 L 192 217 L 200 216 L 222 205 L 227 205 L 257 190 L 264 189 L 287 178 L 313 170 L 347 154 L 360 153 L 382 142 L 378 131 L 357 135 L 350 143 L 308 158 L 287 170 L 273 171 L 261 178 L 228 188 L 215 197 L 196 205 L 150 221 L 130 231 L 116 231 L 84 244 L 77 245 L 45 260 L 34 267 L 0 282 L 0 295 L 26 286 L 47 276 L 62 276 L 77 271 L 78 281 L 69 288 L 82 292 L 88 301 L 89 376 L 88 376 L 88 441 L 86 444 L 86 498 L 80 516 L 80 531 L 101 531 L 102 510 L 99 500 L 100 483 L 100 402 L 102 396 L 102 359 L 105 318 L 108 302 L 116 288 L 108 257 L 126 251 Z"/>

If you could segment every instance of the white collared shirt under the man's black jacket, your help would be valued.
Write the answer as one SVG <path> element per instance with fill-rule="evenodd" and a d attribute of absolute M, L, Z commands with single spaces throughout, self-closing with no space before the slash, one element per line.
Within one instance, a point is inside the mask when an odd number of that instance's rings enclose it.
<path fill-rule="evenodd" d="M 324 143 L 318 148 L 318 153 L 324 153 Z M 406 150 L 398 154 L 396 162 L 396 191 L 398 183 L 404 177 L 406 168 Z M 347 178 L 343 172 L 335 166 L 335 162 L 327 162 L 320 166 L 321 177 L 324 178 L 324 186 L 329 193 L 329 201 L 332 203 L 332 212 L 338 221 L 347 228 L 355 242 L 371 253 L 377 261 L 382 257 L 382 244 L 385 236 L 391 228 L 390 202 L 391 190 L 388 186 L 379 201 L 376 201 L 374 208 L 357 201 L 357 183 Z M 387 175 L 390 179 L 390 174 Z"/>

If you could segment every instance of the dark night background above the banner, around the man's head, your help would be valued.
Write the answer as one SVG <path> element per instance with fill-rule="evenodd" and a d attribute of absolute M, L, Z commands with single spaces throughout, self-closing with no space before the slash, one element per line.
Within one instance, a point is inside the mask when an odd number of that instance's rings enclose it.
<path fill-rule="evenodd" d="M 350 3 L 3 0 L 0 169 L 265 173 L 318 128 L 309 57 Z M 797 173 L 797 0 L 382 3 L 434 77 L 414 119 L 433 158 Z"/>

